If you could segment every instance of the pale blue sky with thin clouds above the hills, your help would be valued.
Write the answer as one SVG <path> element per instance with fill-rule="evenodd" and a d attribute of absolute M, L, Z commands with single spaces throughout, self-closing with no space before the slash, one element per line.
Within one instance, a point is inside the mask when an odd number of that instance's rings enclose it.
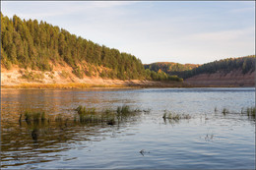
<path fill-rule="evenodd" d="M 253 1 L 1 1 L 1 11 L 64 28 L 143 64 L 255 54 Z"/>

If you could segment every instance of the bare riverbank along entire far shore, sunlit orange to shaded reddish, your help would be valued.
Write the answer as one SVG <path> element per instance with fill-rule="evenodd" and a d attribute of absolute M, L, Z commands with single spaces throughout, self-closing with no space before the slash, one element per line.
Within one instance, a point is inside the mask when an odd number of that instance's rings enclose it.
<path fill-rule="evenodd" d="M 235 75 L 238 75 L 236 78 Z M 130 87 L 239 87 L 254 86 L 255 72 L 250 75 L 233 73 L 232 75 L 197 76 L 184 82 L 160 82 L 140 80 L 115 80 L 100 77 L 77 78 L 68 67 L 54 68 L 51 72 L 34 71 L 13 67 L 11 70 L 1 69 L 1 88 L 130 88 Z"/>

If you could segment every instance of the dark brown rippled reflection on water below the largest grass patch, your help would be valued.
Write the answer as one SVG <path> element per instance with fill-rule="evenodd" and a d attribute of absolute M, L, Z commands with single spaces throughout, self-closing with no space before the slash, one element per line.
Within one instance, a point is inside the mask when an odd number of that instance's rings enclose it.
<path fill-rule="evenodd" d="M 118 131 L 120 127 L 120 124 L 110 127 L 106 124 L 85 125 L 74 122 L 41 122 L 30 125 L 24 122 L 21 126 L 12 126 L 12 129 L 3 127 L 2 167 L 56 160 L 62 155 L 58 152 L 82 149 L 87 147 L 85 142 L 100 142 L 109 132 Z M 54 156 L 47 155 L 50 153 L 54 153 Z"/>

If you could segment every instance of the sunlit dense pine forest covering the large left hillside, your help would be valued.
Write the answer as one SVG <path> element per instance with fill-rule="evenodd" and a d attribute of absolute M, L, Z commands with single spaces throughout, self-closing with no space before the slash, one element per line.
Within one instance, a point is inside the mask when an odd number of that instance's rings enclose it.
<path fill-rule="evenodd" d="M 141 60 L 117 49 L 99 45 L 69 31 L 36 20 L 8 18 L 1 13 L 1 66 L 52 71 L 68 64 L 80 79 L 98 73 L 120 80 L 179 81 L 162 71 L 145 69 Z"/>

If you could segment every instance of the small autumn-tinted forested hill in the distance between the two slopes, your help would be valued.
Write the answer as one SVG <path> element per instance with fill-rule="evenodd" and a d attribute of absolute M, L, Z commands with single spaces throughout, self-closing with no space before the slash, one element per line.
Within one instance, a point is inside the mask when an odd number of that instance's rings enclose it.
<path fill-rule="evenodd" d="M 198 67 L 198 64 L 179 64 L 173 62 L 157 62 L 152 64 L 145 64 L 145 69 L 150 69 L 151 71 L 159 72 L 163 71 L 168 75 L 176 75 L 182 77 L 184 71 L 192 70 Z"/>

